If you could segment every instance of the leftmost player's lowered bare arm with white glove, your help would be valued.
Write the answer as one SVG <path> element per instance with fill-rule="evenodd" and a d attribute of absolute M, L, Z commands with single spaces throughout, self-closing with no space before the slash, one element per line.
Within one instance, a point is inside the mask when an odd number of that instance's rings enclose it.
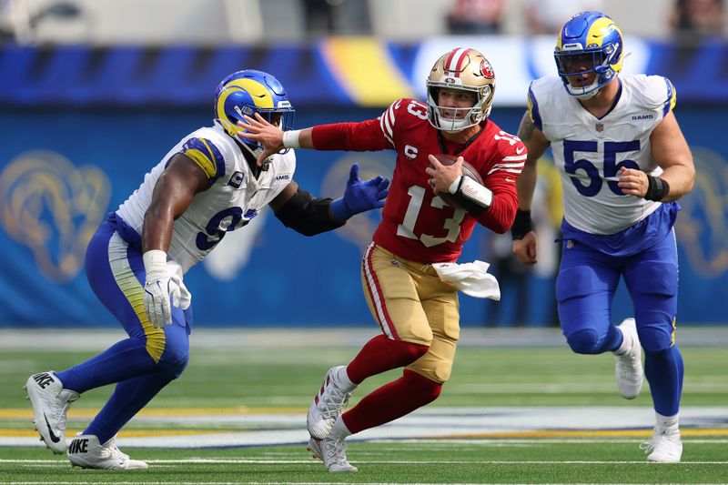
<path fill-rule="evenodd" d="M 144 308 L 155 328 L 172 323 L 169 298 L 179 305 L 179 288 L 170 283 L 167 272 L 167 249 L 172 239 L 172 225 L 192 202 L 195 194 L 207 189 L 207 176 L 189 157 L 177 154 L 157 179 L 152 202 L 144 215 L 142 259 L 147 274 Z"/>

